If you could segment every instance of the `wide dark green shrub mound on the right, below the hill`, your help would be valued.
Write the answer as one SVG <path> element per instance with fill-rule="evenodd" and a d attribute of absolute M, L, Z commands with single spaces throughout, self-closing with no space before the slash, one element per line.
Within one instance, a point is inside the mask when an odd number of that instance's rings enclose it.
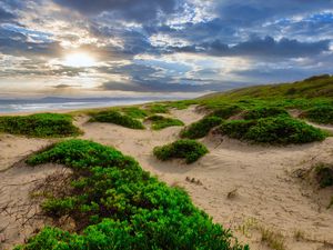
<path fill-rule="evenodd" d="M 326 138 L 322 130 L 285 116 L 224 121 L 216 132 L 234 139 L 272 144 L 306 143 Z"/>

